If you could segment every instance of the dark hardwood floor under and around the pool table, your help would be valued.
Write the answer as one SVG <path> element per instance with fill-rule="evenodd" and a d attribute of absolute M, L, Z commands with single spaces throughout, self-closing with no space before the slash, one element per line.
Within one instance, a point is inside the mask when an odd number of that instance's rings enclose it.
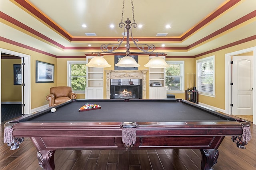
<path fill-rule="evenodd" d="M 256 125 L 251 123 L 252 139 L 246 149 L 239 149 L 231 137 L 219 147 L 214 170 L 256 170 Z M 3 143 L 4 124 L 0 131 L 1 170 L 42 170 L 36 148 L 29 138 L 20 149 L 10 150 Z M 188 141 L 189 142 L 189 141 Z M 57 150 L 56 170 L 200 170 L 200 150 Z"/>

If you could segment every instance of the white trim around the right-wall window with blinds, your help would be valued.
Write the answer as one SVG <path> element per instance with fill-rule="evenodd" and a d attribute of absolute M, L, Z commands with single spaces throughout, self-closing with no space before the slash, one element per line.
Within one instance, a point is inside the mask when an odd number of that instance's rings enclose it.
<path fill-rule="evenodd" d="M 209 96 L 209 97 L 214 97 L 215 98 L 215 55 L 212 55 L 210 57 L 205 57 L 203 59 L 198 59 L 196 60 L 196 85 L 198 86 L 198 63 L 201 63 L 201 62 L 204 62 L 204 61 L 209 61 L 209 60 L 212 60 L 213 61 L 213 89 L 212 89 L 212 94 L 209 94 L 209 93 L 205 93 L 205 92 L 200 92 L 199 89 L 198 90 L 198 93 L 200 95 L 204 95 L 204 96 Z"/>

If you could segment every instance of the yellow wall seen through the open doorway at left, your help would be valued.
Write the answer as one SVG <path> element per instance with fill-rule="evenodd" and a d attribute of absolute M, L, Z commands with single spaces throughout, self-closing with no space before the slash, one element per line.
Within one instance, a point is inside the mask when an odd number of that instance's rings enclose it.
<path fill-rule="evenodd" d="M 14 85 L 13 64 L 21 64 L 21 59 L 1 59 L 1 100 L 21 102 L 21 85 Z"/>

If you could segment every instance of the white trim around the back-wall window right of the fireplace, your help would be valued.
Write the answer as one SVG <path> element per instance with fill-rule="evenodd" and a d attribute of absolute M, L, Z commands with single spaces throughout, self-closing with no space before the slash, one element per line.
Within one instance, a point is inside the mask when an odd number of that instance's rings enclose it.
<path fill-rule="evenodd" d="M 180 90 L 167 90 L 167 94 L 170 93 L 184 93 L 185 92 L 185 88 L 184 88 L 184 75 L 185 75 L 185 61 L 184 60 L 177 60 L 177 61 L 166 61 L 167 64 L 182 64 L 182 68 L 181 68 L 181 80 L 180 80 Z M 164 79 L 166 78 L 166 72 L 164 71 Z M 166 84 L 165 84 L 166 85 Z"/>

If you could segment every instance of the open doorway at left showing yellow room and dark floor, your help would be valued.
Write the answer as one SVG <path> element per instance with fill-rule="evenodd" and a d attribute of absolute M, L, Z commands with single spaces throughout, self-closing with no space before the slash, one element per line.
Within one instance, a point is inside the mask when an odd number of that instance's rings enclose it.
<path fill-rule="evenodd" d="M 1 53 L 1 116 L 2 122 L 21 116 L 22 57 Z"/>

